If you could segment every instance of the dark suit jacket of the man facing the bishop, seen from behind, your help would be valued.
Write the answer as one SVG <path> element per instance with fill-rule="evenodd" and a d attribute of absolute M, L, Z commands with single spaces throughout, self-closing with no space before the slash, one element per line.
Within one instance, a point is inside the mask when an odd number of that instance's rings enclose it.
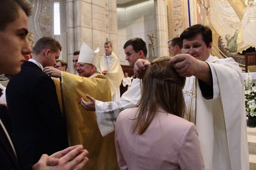
<path fill-rule="evenodd" d="M 13 142 L 24 166 L 68 147 L 66 119 L 62 117 L 53 80 L 25 61 L 6 87 Z"/>

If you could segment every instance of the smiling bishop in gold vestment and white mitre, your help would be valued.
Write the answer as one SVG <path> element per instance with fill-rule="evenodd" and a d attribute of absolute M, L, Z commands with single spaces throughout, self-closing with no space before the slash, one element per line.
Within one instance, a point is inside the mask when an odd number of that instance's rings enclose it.
<path fill-rule="evenodd" d="M 80 104 L 81 96 L 89 101 L 85 97 L 86 94 L 103 102 L 111 101 L 109 81 L 106 76 L 97 72 L 95 66 L 98 64 L 98 52 L 99 48 L 93 51 L 87 44 L 82 44 L 75 67 L 79 76 L 61 72 L 54 67 L 45 67 L 44 72 L 51 77 L 61 78 L 61 83 L 55 83 L 56 87 L 61 86 L 61 101 L 67 118 L 69 144 L 83 144 L 90 153 L 90 161 L 84 169 L 119 169 L 114 132 L 102 137 L 95 112 L 83 109 Z"/>

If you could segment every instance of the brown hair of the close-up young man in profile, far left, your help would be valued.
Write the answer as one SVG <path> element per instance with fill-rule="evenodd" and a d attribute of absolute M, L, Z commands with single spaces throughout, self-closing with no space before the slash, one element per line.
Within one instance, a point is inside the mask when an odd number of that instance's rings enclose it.
<path fill-rule="evenodd" d="M 8 23 L 18 17 L 18 7 L 21 7 L 27 16 L 32 14 L 32 5 L 28 0 L 0 1 L 0 31 L 3 31 Z"/>

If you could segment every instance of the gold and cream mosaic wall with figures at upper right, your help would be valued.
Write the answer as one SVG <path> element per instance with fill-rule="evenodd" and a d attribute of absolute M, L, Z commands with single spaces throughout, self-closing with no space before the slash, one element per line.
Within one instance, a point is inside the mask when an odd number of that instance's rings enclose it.
<path fill-rule="evenodd" d="M 169 38 L 190 25 L 213 31 L 212 55 L 232 57 L 244 67 L 244 52 L 256 47 L 256 0 L 167 0 Z M 188 11 L 188 12 L 187 12 Z"/>

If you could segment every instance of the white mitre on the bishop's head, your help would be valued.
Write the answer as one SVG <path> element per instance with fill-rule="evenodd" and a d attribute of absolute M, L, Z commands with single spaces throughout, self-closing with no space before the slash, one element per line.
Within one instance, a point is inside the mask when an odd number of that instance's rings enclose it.
<path fill-rule="evenodd" d="M 85 42 L 83 42 L 77 63 L 87 63 L 97 66 L 99 60 L 99 51 L 99 47 L 97 47 L 97 49 L 94 51 Z"/>

